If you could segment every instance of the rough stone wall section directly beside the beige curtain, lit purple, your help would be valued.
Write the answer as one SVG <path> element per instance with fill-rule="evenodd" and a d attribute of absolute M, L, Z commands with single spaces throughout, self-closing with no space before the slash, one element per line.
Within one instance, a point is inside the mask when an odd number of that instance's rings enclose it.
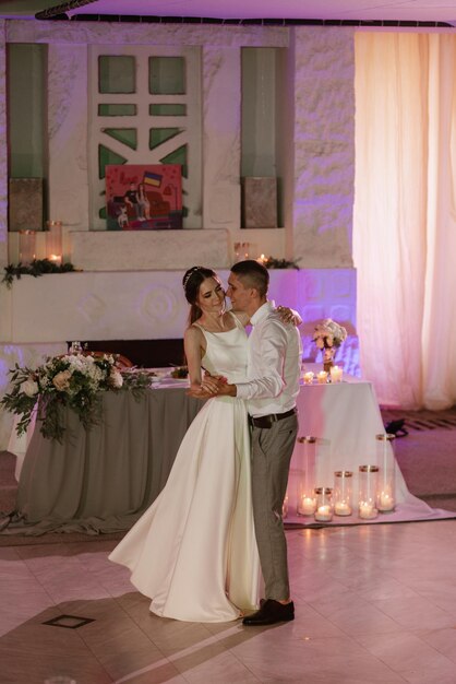
<path fill-rule="evenodd" d="M 350 267 L 355 181 L 353 30 L 295 30 L 293 252 Z"/>

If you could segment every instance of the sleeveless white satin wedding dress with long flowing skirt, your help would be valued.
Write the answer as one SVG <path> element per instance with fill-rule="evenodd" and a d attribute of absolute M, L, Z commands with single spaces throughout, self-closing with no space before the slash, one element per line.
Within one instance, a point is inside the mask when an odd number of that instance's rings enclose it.
<path fill-rule="evenodd" d="M 233 317 L 235 318 L 235 317 Z M 247 334 L 203 330 L 206 370 L 245 379 Z M 240 399 L 209 399 L 190 425 L 168 482 L 112 551 L 151 611 L 190 622 L 227 622 L 257 606 L 250 435 Z"/>

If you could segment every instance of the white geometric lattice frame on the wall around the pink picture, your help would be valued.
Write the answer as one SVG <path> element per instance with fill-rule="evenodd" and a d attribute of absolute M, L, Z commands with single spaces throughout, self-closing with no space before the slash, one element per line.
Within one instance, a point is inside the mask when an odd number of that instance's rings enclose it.
<path fill-rule="evenodd" d="M 135 92 L 107 94 L 98 89 L 98 58 L 103 55 L 133 56 L 135 58 Z M 185 93 L 158 95 L 149 93 L 148 63 L 151 57 L 183 57 L 185 63 Z M 105 207 L 105 178 L 99 174 L 99 145 L 125 158 L 125 164 L 160 164 L 182 146 L 187 148 L 187 176 L 182 174 L 184 207 L 183 227 L 201 228 L 202 205 L 202 84 L 201 48 L 195 46 L 129 46 L 92 45 L 88 54 L 88 178 L 89 225 L 106 228 L 100 210 Z M 135 115 L 100 116 L 99 105 L 132 104 Z M 179 104 L 185 107 L 183 116 L 151 114 L 152 105 Z M 115 140 L 106 129 L 136 130 L 136 149 Z M 152 128 L 177 128 L 179 132 L 149 148 Z"/>

